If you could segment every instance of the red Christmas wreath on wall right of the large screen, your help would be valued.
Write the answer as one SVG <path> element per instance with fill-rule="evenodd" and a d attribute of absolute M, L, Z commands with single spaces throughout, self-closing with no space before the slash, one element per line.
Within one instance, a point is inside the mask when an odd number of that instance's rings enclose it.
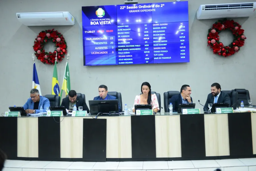
<path fill-rule="evenodd" d="M 207 36 L 208 46 L 213 49 L 214 54 L 218 54 L 224 57 L 234 55 L 235 52 L 240 50 L 240 47 L 244 46 L 245 35 L 242 26 L 234 20 L 219 20 L 212 25 L 209 29 Z M 234 35 L 234 40 L 228 46 L 219 42 L 219 33 L 223 30 L 231 30 Z"/>

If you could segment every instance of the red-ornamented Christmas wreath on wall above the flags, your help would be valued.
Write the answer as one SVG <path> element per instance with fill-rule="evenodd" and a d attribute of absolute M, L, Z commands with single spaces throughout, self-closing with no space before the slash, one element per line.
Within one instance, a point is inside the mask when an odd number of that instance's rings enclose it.
<path fill-rule="evenodd" d="M 53 43 L 55 43 L 56 49 L 54 52 L 45 52 L 44 45 L 48 41 L 52 41 Z M 37 38 L 34 41 L 33 49 L 38 60 L 40 60 L 44 64 L 54 64 L 55 57 L 57 57 L 56 61 L 60 62 L 65 57 L 65 54 L 67 54 L 67 43 L 63 35 L 57 30 L 45 30 L 41 31 L 37 35 Z"/>

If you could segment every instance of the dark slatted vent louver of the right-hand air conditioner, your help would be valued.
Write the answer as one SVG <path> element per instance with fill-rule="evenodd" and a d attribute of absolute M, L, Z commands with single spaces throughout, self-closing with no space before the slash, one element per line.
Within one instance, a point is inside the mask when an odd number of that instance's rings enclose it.
<path fill-rule="evenodd" d="M 253 3 L 221 4 L 221 5 L 206 5 L 205 6 L 205 10 L 242 9 L 242 8 L 253 8 Z"/>

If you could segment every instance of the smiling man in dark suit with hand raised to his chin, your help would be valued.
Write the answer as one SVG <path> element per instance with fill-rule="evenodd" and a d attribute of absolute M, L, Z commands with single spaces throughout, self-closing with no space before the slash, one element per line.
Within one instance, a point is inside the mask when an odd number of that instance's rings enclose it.
<path fill-rule="evenodd" d="M 193 103 L 192 97 L 190 97 L 191 88 L 189 85 L 183 85 L 180 89 L 180 94 L 172 96 L 170 103 L 173 105 L 173 112 L 178 111 L 179 104 Z"/>

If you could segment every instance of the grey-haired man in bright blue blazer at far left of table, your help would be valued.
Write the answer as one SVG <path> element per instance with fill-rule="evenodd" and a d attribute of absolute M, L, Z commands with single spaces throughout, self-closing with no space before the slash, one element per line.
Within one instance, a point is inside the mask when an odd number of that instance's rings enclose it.
<path fill-rule="evenodd" d="M 50 101 L 46 97 L 40 96 L 39 91 L 33 88 L 30 91 L 30 98 L 24 104 L 23 108 L 26 113 L 39 113 L 40 106 L 43 107 L 43 112 L 46 112 L 45 108 L 50 107 Z"/>

